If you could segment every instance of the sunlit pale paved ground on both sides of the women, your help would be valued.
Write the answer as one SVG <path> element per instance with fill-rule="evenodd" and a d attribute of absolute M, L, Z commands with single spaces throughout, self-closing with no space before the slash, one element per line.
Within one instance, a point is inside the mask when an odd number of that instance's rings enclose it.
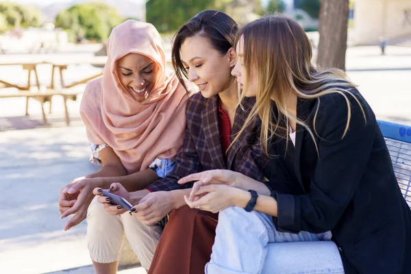
<path fill-rule="evenodd" d="M 90 55 L 92 50 L 77 54 Z M 349 48 L 347 72 L 379 119 L 411 125 L 411 47 L 388 47 L 386 53 L 379 55 L 377 47 Z M 68 53 L 60 54 L 54 57 L 66 58 Z M 92 70 L 98 69 L 74 66 L 67 75 L 76 79 Z M 47 66 L 39 74 L 40 81 L 49 81 Z M 0 79 L 24 82 L 25 76 L 18 67 L 0 66 Z M 33 115 L 23 116 L 24 103 L 25 99 L 0 100 L 0 273 L 92 273 L 84 240 L 86 223 L 64 232 L 65 221 L 59 219 L 57 207 L 64 184 L 96 169 L 87 162 L 79 101 L 69 104 L 71 127 L 64 125 L 61 99 L 53 102 L 51 127 L 42 125 L 36 101 L 30 103 Z M 144 270 L 121 271 L 131 272 Z"/>

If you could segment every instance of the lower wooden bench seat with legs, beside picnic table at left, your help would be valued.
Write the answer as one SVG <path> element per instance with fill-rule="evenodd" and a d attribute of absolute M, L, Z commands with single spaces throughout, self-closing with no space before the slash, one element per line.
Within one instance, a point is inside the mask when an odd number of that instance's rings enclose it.
<path fill-rule="evenodd" d="M 36 99 L 41 104 L 42 118 L 45 125 L 47 125 L 47 116 L 45 113 L 44 103 L 47 101 L 51 102 L 51 98 L 55 95 L 62 96 L 64 100 L 64 112 L 66 116 L 66 124 L 70 125 L 69 110 L 67 108 L 67 100 L 75 101 L 77 95 L 81 94 L 83 90 L 46 90 L 45 92 L 30 92 L 30 91 L 18 91 L 18 92 L 0 92 L 1 98 L 26 98 L 26 108 L 25 114 L 29 115 L 29 98 Z"/>

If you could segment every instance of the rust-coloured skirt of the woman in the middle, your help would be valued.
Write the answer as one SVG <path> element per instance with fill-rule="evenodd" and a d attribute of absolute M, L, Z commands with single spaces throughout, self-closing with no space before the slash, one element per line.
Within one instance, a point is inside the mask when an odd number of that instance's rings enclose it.
<path fill-rule="evenodd" d="M 218 213 L 183 206 L 170 214 L 149 274 L 201 274 L 210 261 Z"/>

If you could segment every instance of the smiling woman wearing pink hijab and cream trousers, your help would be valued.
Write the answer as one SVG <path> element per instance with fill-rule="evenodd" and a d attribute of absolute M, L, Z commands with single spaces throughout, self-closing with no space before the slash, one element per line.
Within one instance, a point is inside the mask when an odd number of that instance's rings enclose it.
<path fill-rule="evenodd" d="M 160 225 L 147 226 L 129 214 L 111 216 L 93 200 L 93 188 L 120 182 L 129 192 L 165 177 L 183 144 L 186 89 L 166 68 L 164 47 L 153 25 L 134 20 L 115 27 L 107 45 L 103 76 L 86 86 L 81 115 L 97 173 L 74 179 L 60 192 L 64 229 L 87 217 L 88 249 L 96 273 L 116 273 L 123 234 L 149 269 Z M 115 193 L 115 192 L 114 192 Z"/>

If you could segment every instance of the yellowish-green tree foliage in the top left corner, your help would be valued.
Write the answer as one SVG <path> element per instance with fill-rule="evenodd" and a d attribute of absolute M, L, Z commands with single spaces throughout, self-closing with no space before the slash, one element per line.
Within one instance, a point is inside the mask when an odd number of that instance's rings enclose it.
<path fill-rule="evenodd" d="M 13 27 L 40 27 L 42 14 L 38 8 L 18 3 L 0 3 L 0 31 Z"/>

